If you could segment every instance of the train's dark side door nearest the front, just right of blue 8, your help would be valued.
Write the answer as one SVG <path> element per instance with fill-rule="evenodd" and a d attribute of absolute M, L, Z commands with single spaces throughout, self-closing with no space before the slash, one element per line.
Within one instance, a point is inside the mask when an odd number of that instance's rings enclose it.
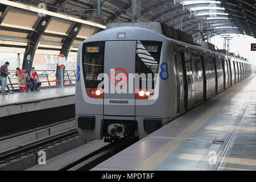
<path fill-rule="evenodd" d="M 177 82 L 177 113 L 183 113 L 185 110 L 185 76 L 183 71 L 183 53 L 177 52 L 175 55 L 176 64 L 176 82 Z"/>

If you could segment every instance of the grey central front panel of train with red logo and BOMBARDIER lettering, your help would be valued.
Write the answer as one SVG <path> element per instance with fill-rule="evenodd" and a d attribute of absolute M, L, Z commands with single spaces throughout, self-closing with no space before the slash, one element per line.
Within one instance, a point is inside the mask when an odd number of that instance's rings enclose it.
<path fill-rule="evenodd" d="M 104 73 L 109 93 L 104 93 L 104 115 L 135 115 L 135 94 L 129 93 L 129 73 L 135 73 L 136 41 L 106 41 Z M 104 85 L 104 87 L 107 85 Z M 133 89 L 134 90 L 134 89 Z"/>

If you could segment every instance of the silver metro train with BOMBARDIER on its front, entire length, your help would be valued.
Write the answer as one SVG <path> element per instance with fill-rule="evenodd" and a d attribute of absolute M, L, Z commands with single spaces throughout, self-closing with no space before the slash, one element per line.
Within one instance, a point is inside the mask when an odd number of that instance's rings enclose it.
<path fill-rule="evenodd" d="M 84 40 L 77 55 L 79 134 L 141 139 L 251 75 L 247 60 L 191 39 L 151 22 L 108 24 Z"/>

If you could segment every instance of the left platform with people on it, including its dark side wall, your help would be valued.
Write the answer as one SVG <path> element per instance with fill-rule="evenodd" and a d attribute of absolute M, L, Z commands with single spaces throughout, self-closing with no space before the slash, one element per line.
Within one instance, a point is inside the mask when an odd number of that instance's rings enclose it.
<path fill-rule="evenodd" d="M 75 86 L 0 95 L 0 137 L 75 118 Z"/>

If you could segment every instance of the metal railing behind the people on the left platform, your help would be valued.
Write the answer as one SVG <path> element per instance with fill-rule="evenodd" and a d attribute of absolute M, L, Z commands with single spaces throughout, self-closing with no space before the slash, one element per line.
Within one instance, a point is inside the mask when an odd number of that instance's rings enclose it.
<path fill-rule="evenodd" d="M 11 73 L 7 76 L 7 87 L 11 87 L 11 90 L 18 89 L 18 78 L 15 76 L 16 71 L 9 71 Z M 41 86 L 54 86 L 57 85 L 56 80 L 56 70 L 36 70 L 38 73 L 38 80 L 42 83 Z M 76 71 L 75 70 L 65 70 L 64 72 L 64 84 L 75 84 L 76 83 Z"/>

